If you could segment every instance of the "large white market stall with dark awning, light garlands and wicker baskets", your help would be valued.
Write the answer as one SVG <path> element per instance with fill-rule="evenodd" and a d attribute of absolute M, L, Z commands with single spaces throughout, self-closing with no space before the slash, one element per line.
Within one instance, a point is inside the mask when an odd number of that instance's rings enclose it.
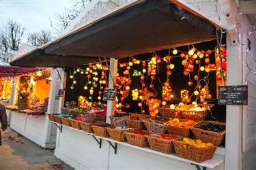
<path fill-rule="evenodd" d="M 11 63 L 31 67 L 46 56 L 40 67 L 64 67 L 61 109 L 48 112 L 55 156 L 74 169 L 231 169 L 238 111 L 250 101 L 247 86 L 227 86 L 242 84 L 228 33 L 175 1 L 88 9 L 66 34 Z M 67 56 L 79 59 L 53 63 Z M 228 90 L 245 95 L 225 98 Z"/>

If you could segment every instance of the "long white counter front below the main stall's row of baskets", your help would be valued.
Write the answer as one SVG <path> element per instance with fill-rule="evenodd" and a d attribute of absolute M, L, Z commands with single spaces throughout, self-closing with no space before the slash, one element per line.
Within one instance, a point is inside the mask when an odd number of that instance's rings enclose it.
<path fill-rule="evenodd" d="M 55 123 L 55 122 L 54 122 Z M 56 124 L 56 123 L 55 123 Z M 55 156 L 74 169 L 224 169 L 225 149 L 203 163 L 56 124 Z"/>

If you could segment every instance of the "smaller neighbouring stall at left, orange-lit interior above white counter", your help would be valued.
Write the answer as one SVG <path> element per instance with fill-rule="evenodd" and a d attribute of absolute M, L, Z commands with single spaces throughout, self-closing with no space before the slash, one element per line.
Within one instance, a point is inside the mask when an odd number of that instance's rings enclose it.
<path fill-rule="evenodd" d="M 45 114 L 51 80 L 49 69 L 16 77 L 14 105 L 6 106 L 12 109 L 10 127 L 42 148 L 55 148 L 56 129 Z"/>

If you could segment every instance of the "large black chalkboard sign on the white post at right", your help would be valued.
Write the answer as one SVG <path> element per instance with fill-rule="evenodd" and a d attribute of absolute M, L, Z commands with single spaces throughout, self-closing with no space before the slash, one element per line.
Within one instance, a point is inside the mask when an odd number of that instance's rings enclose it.
<path fill-rule="evenodd" d="M 248 86 L 219 86 L 218 105 L 247 105 Z"/>

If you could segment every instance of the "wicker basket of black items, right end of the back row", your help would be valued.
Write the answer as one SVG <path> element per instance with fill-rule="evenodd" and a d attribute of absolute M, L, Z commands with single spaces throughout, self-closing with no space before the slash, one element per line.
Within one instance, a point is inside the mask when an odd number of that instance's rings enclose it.
<path fill-rule="evenodd" d="M 199 128 L 201 125 L 205 125 L 209 123 L 220 124 L 223 126 L 226 125 L 226 123 L 224 122 L 202 121 L 202 122 L 199 122 L 199 124 L 195 125 L 193 128 L 191 128 L 191 130 L 193 131 L 197 139 L 200 139 L 204 142 L 211 142 L 211 143 L 214 143 L 214 145 L 219 146 L 221 143 L 223 143 L 226 131 L 224 130 L 221 133 L 218 133 L 213 131 L 206 131 Z"/>

